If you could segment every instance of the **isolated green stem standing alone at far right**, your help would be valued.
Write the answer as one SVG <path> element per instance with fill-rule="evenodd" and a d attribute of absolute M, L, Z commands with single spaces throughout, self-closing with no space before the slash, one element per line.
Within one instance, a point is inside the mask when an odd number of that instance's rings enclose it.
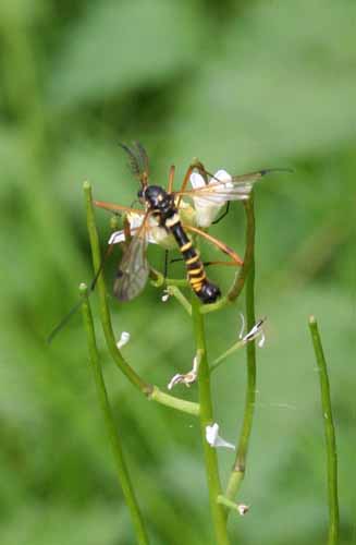
<path fill-rule="evenodd" d="M 318 364 L 321 391 L 321 409 L 324 422 L 324 434 L 327 444 L 327 471 L 328 471 L 328 496 L 329 496 L 329 538 L 328 545 L 336 545 L 339 541 L 339 499 L 337 499 L 337 451 L 335 429 L 332 417 L 330 383 L 328 377 L 327 362 L 322 350 L 318 323 L 314 316 L 309 317 L 309 329 L 314 344 L 314 351 Z"/>

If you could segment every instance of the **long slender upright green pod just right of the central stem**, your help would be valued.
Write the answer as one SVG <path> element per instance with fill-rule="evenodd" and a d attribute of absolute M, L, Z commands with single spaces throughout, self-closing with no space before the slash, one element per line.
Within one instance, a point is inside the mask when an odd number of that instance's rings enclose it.
<path fill-rule="evenodd" d="M 246 317 L 247 330 L 250 330 L 255 323 L 255 259 L 254 246 L 255 239 L 250 240 L 251 244 L 251 258 L 249 263 L 249 272 L 246 281 Z M 236 449 L 236 459 L 231 472 L 225 496 L 229 499 L 234 499 L 245 476 L 246 457 L 248 450 L 249 438 L 251 434 L 254 412 L 255 412 L 255 398 L 256 398 L 256 346 L 255 341 L 247 342 L 247 389 L 245 399 L 244 420 L 240 440 Z"/>

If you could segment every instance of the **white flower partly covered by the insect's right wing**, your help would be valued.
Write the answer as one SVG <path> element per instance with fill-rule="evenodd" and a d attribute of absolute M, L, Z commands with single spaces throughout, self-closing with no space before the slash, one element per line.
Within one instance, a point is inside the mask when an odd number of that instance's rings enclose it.
<path fill-rule="evenodd" d="M 219 184 L 218 182 L 222 183 Z M 195 190 L 206 187 L 206 182 L 202 175 L 198 172 L 193 172 L 191 174 L 191 183 Z M 209 194 L 209 198 L 193 197 L 196 210 L 196 222 L 200 227 L 211 226 L 212 221 L 217 219 L 221 208 L 229 201 L 229 190 L 234 189 L 232 178 L 225 170 L 218 170 L 218 172 L 216 172 L 213 178 L 209 181 L 209 185 L 211 185 L 211 189 L 217 192 L 217 195 Z M 223 195 L 219 195 L 218 192 L 221 192 L 222 190 Z M 236 191 L 236 189 L 234 189 L 234 191 Z M 241 198 L 243 199 L 247 197 L 246 187 L 244 186 Z"/>

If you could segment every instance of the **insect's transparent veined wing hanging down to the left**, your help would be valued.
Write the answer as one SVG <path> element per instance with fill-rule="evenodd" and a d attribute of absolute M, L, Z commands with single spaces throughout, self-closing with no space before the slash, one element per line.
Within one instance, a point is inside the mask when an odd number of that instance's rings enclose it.
<path fill-rule="evenodd" d="M 149 264 L 146 257 L 147 226 L 146 216 L 142 227 L 132 238 L 119 266 L 118 275 L 113 284 L 113 293 L 119 301 L 131 301 L 145 288 Z"/>

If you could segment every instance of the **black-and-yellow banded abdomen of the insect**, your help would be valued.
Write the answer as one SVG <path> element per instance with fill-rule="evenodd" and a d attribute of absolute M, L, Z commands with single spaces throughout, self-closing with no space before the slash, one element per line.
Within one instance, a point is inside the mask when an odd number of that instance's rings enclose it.
<path fill-rule="evenodd" d="M 167 219 L 165 227 L 171 231 L 180 246 L 193 291 L 202 303 L 214 303 L 221 295 L 220 289 L 208 280 L 204 265 L 199 259 L 199 253 L 195 250 L 192 241 L 184 231 L 179 215 L 174 214 L 171 218 Z"/>

